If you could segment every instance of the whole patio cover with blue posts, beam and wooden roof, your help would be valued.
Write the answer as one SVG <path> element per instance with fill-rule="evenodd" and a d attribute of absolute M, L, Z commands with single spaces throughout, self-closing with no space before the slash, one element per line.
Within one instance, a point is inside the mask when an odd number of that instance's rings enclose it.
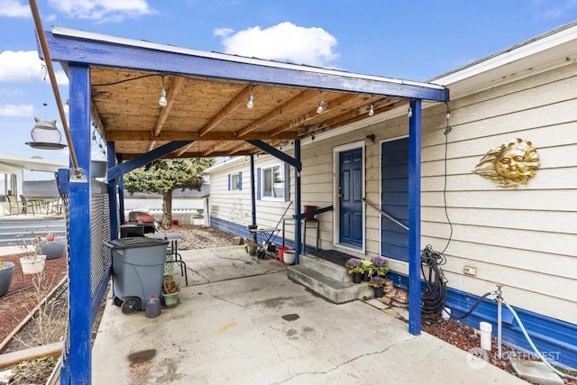
<path fill-rule="evenodd" d="M 72 304 L 61 383 L 91 378 L 90 330 L 111 274 L 110 252 L 102 243 L 117 238 L 124 222 L 124 173 L 162 157 L 248 156 L 252 163 L 269 153 L 295 169 L 294 215 L 300 219 L 300 142 L 403 105 L 411 186 L 408 332 L 420 334 L 421 105 L 447 102 L 447 88 L 64 28 L 45 32 L 45 38 L 51 60 L 69 76 L 69 145 L 71 164 L 78 164 L 59 173 L 69 215 Z M 107 143 L 107 183 L 92 178 L 90 143 L 96 134 Z M 288 145 L 293 155 L 282 151 Z M 251 188 L 254 197 L 253 168 Z M 255 206 L 253 198 L 253 224 Z M 301 233 L 297 220 L 295 234 Z M 302 245 L 296 239 L 298 262 Z"/>

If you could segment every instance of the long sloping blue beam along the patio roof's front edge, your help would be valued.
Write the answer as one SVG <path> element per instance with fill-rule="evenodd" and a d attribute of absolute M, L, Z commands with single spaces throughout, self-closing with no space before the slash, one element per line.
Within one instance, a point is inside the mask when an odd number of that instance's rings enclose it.
<path fill-rule="evenodd" d="M 133 41 L 132 44 L 118 39 L 114 42 L 104 41 L 104 38 L 109 38 L 105 36 L 100 40 L 88 40 L 66 34 L 45 33 L 52 60 L 57 61 L 157 71 L 159 76 L 160 73 L 175 73 L 440 102 L 449 100 L 448 88 L 426 83 L 280 65 L 267 60 L 249 60 L 214 52 L 175 52 L 169 51 L 175 50 L 173 47 L 163 45 L 143 47 L 142 41 Z"/>

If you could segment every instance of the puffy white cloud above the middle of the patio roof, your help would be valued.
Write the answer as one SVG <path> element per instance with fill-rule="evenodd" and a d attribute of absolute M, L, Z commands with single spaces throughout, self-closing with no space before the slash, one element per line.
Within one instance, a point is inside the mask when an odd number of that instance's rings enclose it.
<path fill-rule="evenodd" d="M 333 35 L 322 28 L 304 28 L 285 22 L 270 28 L 256 26 L 243 31 L 220 28 L 224 52 L 267 60 L 326 67 L 338 57 Z"/>

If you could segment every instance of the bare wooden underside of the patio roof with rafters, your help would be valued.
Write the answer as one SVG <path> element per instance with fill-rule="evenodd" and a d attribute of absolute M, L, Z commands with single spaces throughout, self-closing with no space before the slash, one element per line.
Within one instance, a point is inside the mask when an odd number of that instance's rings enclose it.
<path fill-rule="evenodd" d="M 168 104 L 159 105 L 162 79 Z M 90 69 L 92 115 L 124 159 L 172 141 L 194 141 L 174 157 L 259 153 L 248 140 L 282 146 L 378 115 L 407 100 L 366 94 L 138 70 Z M 249 96 L 253 107 L 248 108 Z M 316 109 L 323 101 L 323 112 Z"/>

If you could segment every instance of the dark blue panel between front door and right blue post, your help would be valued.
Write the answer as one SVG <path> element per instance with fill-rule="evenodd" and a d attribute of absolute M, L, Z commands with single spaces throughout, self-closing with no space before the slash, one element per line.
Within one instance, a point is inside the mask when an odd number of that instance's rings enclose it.
<path fill-rule="evenodd" d="M 408 226 L 408 138 L 381 145 L 380 209 Z M 380 218 L 380 254 L 408 261 L 408 231 Z"/>

